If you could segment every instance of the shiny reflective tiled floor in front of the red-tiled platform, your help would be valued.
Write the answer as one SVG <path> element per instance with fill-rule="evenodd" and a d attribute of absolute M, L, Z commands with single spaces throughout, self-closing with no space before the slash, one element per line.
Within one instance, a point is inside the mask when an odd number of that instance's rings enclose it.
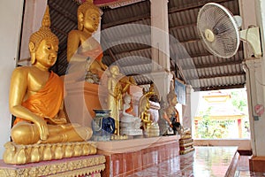
<path fill-rule="evenodd" d="M 265 176 L 249 172 L 248 156 L 239 156 L 237 147 L 195 147 L 193 152 L 170 158 L 130 177 L 138 176 L 187 176 L 187 177 L 246 177 Z"/>

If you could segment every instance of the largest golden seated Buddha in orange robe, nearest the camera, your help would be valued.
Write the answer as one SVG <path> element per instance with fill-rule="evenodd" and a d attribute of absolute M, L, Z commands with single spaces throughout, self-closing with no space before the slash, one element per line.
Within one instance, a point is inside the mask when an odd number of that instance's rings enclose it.
<path fill-rule="evenodd" d="M 42 27 L 30 36 L 31 66 L 17 67 L 11 75 L 10 112 L 16 119 L 11 139 L 17 144 L 83 142 L 90 127 L 67 122 L 64 83 L 49 67 L 57 61 L 58 38 L 50 29 L 49 8 Z"/>

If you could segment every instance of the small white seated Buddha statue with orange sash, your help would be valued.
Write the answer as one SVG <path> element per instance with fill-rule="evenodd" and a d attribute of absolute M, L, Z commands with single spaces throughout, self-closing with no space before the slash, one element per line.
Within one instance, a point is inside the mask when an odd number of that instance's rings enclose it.
<path fill-rule="evenodd" d="M 142 135 L 142 129 L 140 129 L 141 119 L 136 117 L 133 112 L 132 96 L 126 94 L 123 105 L 123 112 L 120 119 L 121 135 Z"/>

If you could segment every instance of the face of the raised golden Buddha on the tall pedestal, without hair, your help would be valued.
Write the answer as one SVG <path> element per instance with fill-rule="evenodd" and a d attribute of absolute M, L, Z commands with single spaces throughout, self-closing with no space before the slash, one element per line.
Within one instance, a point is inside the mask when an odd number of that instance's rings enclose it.
<path fill-rule="evenodd" d="M 99 21 L 100 13 L 95 11 L 95 9 L 88 9 L 83 20 L 84 30 L 87 30 L 89 33 L 95 32 L 99 26 Z"/>

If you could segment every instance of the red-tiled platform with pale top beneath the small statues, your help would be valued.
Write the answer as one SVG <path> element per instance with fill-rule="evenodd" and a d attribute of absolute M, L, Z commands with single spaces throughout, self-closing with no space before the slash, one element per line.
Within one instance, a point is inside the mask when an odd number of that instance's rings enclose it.
<path fill-rule="evenodd" d="M 97 142 L 98 154 L 106 158 L 106 169 L 102 176 L 127 176 L 177 157 L 179 138 L 179 135 L 173 135 Z"/>

